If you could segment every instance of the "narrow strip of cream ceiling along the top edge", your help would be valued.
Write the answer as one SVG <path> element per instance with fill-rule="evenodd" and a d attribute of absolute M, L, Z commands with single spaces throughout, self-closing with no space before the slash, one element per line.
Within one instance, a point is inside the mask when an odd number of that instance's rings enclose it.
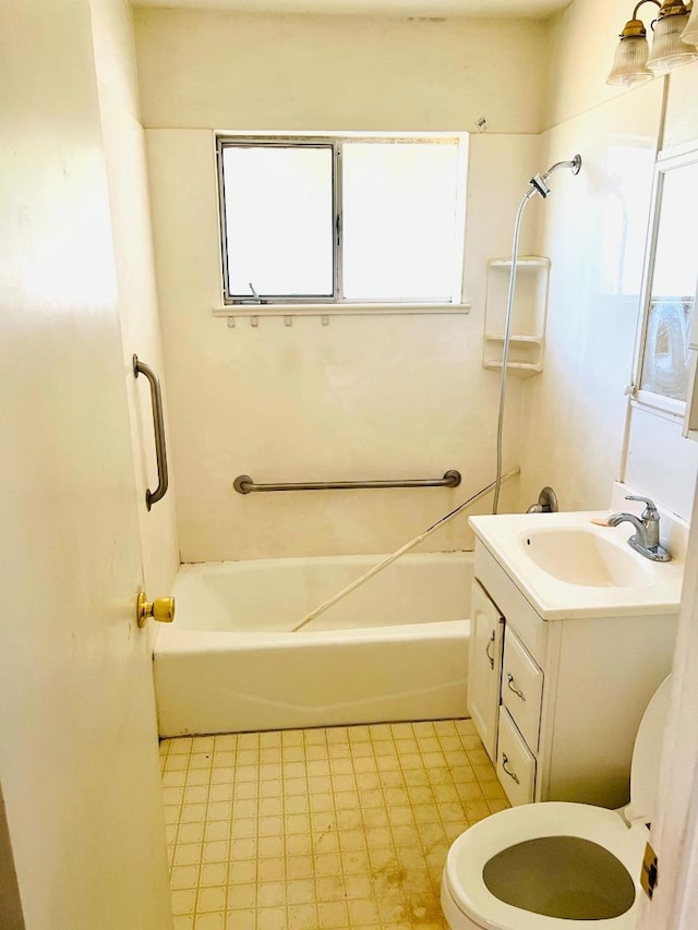
<path fill-rule="evenodd" d="M 133 7 L 188 10 L 232 10 L 244 13 L 337 13 L 345 15 L 464 16 L 542 20 L 569 5 L 570 0 L 131 0 Z"/>

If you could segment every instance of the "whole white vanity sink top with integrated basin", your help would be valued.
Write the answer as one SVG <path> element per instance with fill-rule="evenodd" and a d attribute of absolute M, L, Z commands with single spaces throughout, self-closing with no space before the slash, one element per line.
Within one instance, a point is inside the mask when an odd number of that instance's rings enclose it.
<path fill-rule="evenodd" d="M 684 556 L 674 536 L 672 560 L 651 561 L 628 545 L 630 523 L 592 522 L 610 512 L 502 514 L 471 517 L 470 526 L 543 619 L 677 611 Z"/>

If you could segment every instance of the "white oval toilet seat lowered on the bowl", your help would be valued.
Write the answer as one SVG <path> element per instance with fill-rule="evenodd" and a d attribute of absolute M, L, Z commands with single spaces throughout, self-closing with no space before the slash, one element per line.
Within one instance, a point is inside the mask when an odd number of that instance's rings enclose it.
<path fill-rule="evenodd" d="M 618 814 L 605 808 L 564 801 L 522 805 L 495 813 L 461 834 L 448 853 L 444 883 L 458 909 L 484 930 L 631 930 L 637 918 L 638 880 L 647 836 L 643 826 L 628 829 Z M 607 857 L 606 865 L 614 859 L 621 885 L 625 889 L 619 898 L 622 904 L 614 905 L 615 916 L 589 919 L 585 916 L 549 916 L 528 909 L 526 905 L 507 903 L 493 893 L 491 887 L 496 887 L 496 882 L 490 880 L 488 884 L 485 881 L 485 873 L 491 879 L 493 860 L 496 862 L 502 854 L 506 855 L 506 850 L 516 852 L 515 847 L 527 843 L 532 847 L 537 841 L 546 837 L 576 838 L 582 841 L 578 844 L 580 847 L 601 847 L 599 853 Z M 605 870 L 605 866 L 602 867 L 601 873 Z M 546 898 L 555 899 L 557 885 L 550 884 L 549 873 L 550 869 L 545 871 L 543 862 L 540 884 L 546 887 Z M 589 878 L 580 870 L 574 878 L 575 901 L 599 896 L 599 882 L 593 877 Z M 506 875 L 503 883 L 506 884 Z M 554 889 L 552 895 L 551 889 Z M 503 896 L 512 898 L 512 895 Z M 571 914 L 574 908 L 569 909 L 566 903 L 564 906 L 559 904 L 563 899 L 561 889 L 553 913 Z M 613 899 L 616 899 L 615 890 Z"/>

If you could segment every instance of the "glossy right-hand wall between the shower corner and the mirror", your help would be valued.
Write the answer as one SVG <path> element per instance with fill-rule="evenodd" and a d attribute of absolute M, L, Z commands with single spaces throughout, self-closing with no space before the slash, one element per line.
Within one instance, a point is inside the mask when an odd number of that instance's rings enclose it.
<path fill-rule="evenodd" d="M 583 168 L 578 178 L 555 176 L 541 230 L 540 249 L 564 270 L 552 279 L 545 372 L 525 389 L 521 497 L 551 484 L 563 509 L 602 508 L 621 478 L 688 518 L 698 448 L 678 422 L 630 408 L 625 391 L 655 150 L 698 135 L 690 104 L 698 72 L 672 75 L 666 104 L 664 78 L 609 87 L 623 15 L 601 0 L 577 0 L 553 21 L 543 160 L 580 152 Z"/>

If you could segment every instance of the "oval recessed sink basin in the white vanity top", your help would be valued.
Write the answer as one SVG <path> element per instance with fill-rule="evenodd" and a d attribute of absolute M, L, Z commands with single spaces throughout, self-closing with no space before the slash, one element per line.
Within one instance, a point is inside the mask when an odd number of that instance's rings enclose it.
<path fill-rule="evenodd" d="M 567 584 L 642 588 L 653 582 L 626 544 L 618 545 L 598 530 L 541 527 L 520 533 L 519 543 L 538 568 Z"/>

